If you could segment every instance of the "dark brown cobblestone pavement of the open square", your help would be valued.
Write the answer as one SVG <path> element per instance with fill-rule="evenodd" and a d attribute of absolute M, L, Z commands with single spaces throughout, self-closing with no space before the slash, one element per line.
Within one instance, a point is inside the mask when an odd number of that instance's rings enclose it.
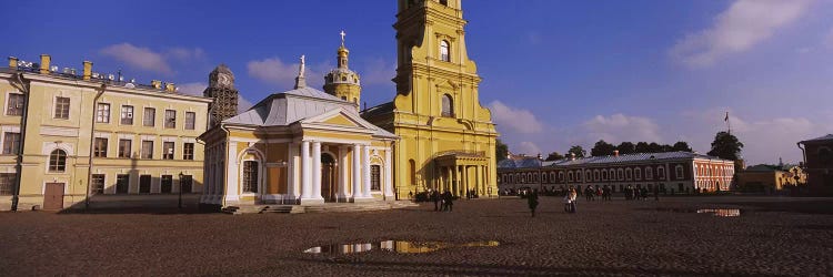
<path fill-rule="evenodd" d="M 699 208 L 741 208 L 737 217 Z M 833 198 L 458 201 L 333 214 L 0 213 L 0 276 L 833 275 Z M 137 211 L 134 211 L 137 212 Z M 388 239 L 466 243 L 425 254 L 305 254 Z"/>

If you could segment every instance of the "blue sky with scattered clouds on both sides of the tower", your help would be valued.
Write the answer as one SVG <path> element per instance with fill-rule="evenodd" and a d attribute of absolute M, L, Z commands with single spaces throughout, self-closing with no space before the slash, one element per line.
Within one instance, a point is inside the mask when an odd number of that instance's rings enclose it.
<path fill-rule="evenodd" d="M 395 1 L 21 1 L 4 7 L 0 53 L 201 92 L 227 63 L 242 96 L 291 89 L 335 65 L 339 31 L 368 105 L 390 101 Z M 604 138 L 688 141 L 725 129 L 750 163 L 801 160 L 795 142 L 833 133 L 833 2 L 464 0 L 481 104 L 515 153 Z"/>

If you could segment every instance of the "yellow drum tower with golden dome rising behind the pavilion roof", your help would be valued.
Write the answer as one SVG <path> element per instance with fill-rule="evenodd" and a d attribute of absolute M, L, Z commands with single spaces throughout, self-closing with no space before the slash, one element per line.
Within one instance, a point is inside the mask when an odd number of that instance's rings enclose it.
<path fill-rule="evenodd" d="M 344 31 L 341 31 L 341 47 L 338 51 L 339 66 L 324 76 L 324 92 L 341 100 L 353 102 L 358 109 L 361 103 L 361 79 L 358 73 L 348 66 L 350 51 L 344 47 L 344 35 L 347 35 Z"/>

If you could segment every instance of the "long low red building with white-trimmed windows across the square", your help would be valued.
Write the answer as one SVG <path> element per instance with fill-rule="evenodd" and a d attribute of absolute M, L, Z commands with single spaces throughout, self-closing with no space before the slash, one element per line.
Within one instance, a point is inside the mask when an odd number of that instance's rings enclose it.
<path fill-rule="evenodd" d="M 665 193 L 729 191 L 734 162 L 691 152 L 640 153 L 541 161 L 541 157 L 510 156 L 498 163 L 498 187 L 554 191 L 574 186 L 609 186 L 622 192 L 659 186 Z"/>

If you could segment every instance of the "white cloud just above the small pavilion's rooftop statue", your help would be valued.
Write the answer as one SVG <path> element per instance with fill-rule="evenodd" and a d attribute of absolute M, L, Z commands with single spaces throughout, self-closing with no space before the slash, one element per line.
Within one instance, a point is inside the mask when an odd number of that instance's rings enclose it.
<path fill-rule="evenodd" d="M 307 86 L 321 88 L 323 85 L 323 74 L 310 69 L 309 60 L 304 70 Z M 249 75 L 270 84 L 280 85 L 282 90 L 292 89 L 295 84 L 300 63 L 287 64 L 279 58 L 269 58 L 247 63 Z"/>

